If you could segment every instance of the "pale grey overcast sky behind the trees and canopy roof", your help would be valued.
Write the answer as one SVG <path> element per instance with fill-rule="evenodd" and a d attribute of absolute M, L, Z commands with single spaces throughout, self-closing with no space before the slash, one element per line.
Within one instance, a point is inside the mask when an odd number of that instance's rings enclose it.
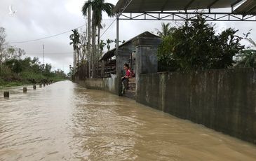
<path fill-rule="evenodd" d="M 0 0 L 0 27 L 6 29 L 8 42 L 27 41 L 59 34 L 75 29 L 85 24 L 81 14 L 84 0 Z M 106 0 L 116 4 L 118 0 Z M 9 15 L 9 6 L 18 12 Z M 114 18 L 103 17 L 103 23 L 108 27 Z M 155 31 L 163 21 L 121 21 L 120 40 L 128 40 L 143 31 Z M 175 22 L 171 22 L 175 25 Z M 243 34 L 252 29 L 250 37 L 256 40 L 256 22 L 216 22 L 216 29 L 222 31 L 227 27 L 239 29 Z M 107 28 L 106 27 L 106 28 Z M 103 29 L 105 30 L 105 29 Z M 73 62 L 72 45 L 69 45 L 69 35 L 62 34 L 53 38 L 30 43 L 15 43 L 18 48 L 27 52 L 27 56 L 39 57 L 43 62 L 43 44 L 45 45 L 45 62 L 53 65 L 53 69 L 69 71 Z M 116 38 L 116 24 L 106 32 L 102 39 Z"/>

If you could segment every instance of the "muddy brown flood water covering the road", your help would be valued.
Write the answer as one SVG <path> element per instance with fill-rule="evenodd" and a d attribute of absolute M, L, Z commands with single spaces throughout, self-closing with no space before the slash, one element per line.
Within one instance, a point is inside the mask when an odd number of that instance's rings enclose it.
<path fill-rule="evenodd" d="M 256 160 L 256 146 L 63 81 L 0 97 L 0 160 Z"/>

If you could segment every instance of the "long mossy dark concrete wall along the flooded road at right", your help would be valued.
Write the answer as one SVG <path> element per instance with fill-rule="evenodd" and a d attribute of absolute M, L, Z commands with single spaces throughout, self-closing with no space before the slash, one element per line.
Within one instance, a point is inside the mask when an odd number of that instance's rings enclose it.
<path fill-rule="evenodd" d="M 140 75 L 136 101 L 256 144 L 255 69 Z"/>

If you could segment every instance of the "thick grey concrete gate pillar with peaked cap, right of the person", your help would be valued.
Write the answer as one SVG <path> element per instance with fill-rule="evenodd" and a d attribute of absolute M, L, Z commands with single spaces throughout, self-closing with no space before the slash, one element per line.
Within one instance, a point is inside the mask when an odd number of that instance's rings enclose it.
<path fill-rule="evenodd" d="M 140 75 L 144 73 L 157 73 L 157 50 L 161 38 L 149 32 L 144 32 L 133 39 L 135 46 L 136 92 L 140 85 Z"/>

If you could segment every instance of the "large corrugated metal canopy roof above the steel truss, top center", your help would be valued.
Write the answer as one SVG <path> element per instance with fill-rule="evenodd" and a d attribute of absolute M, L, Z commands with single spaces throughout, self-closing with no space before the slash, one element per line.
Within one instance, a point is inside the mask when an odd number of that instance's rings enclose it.
<path fill-rule="evenodd" d="M 119 0 L 114 12 L 118 13 L 124 8 L 128 0 Z M 206 8 L 228 8 L 239 0 L 133 0 L 124 10 L 124 13 L 164 11 L 164 10 L 190 10 Z"/>

